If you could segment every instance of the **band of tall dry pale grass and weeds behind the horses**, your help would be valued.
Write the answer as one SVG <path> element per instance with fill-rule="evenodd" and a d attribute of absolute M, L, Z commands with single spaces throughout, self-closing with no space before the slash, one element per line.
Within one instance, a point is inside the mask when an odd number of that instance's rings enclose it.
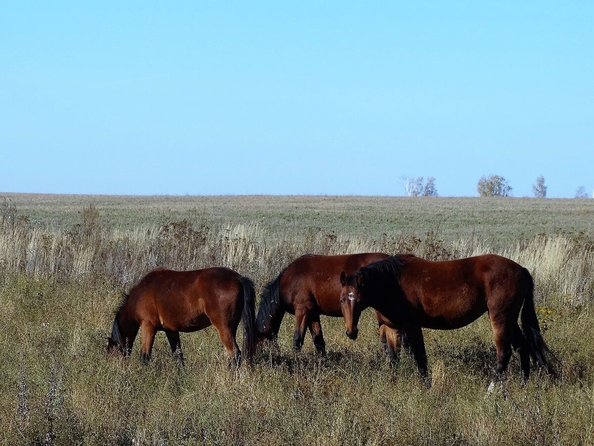
<path fill-rule="evenodd" d="M 511 246 L 493 247 L 476 237 L 444 241 L 439 230 L 424 237 L 382 234 L 380 238 L 327 233 L 310 228 L 305 235 L 285 234 L 270 246 L 258 224 L 215 225 L 197 219 L 159 226 L 103 227 L 93 205 L 69 230 L 33 225 L 14 206 L 0 208 L 0 262 L 5 271 L 34 277 L 109 278 L 128 287 L 150 269 L 236 269 L 256 282 L 276 275 L 304 253 L 414 253 L 434 260 L 497 253 L 516 260 L 535 277 L 538 293 L 580 302 L 592 296 L 594 246 L 585 237 L 539 235 Z"/>

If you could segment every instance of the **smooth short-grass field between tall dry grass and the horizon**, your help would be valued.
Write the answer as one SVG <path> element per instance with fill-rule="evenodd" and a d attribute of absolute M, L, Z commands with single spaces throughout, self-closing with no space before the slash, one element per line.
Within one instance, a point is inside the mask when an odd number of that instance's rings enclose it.
<path fill-rule="evenodd" d="M 183 219 L 211 224 L 258 224 L 267 237 L 305 234 L 312 229 L 381 237 L 440 228 L 449 240 L 470 234 L 504 244 L 537 234 L 594 234 L 590 199 L 348 197 L 348 196 L 84 196 L 0 194 L 51 227 L 80 222 L 94 205 L 112 228 L 162 225 Z"/>

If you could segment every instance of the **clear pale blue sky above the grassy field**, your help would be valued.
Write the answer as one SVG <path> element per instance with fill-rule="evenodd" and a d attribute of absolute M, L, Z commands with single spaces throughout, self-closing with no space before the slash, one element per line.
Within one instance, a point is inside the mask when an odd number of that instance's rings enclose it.
<path fill-rule="evenodd" d="M 3 2 L 0 191 L 594 189 L 594 2 Z"/>

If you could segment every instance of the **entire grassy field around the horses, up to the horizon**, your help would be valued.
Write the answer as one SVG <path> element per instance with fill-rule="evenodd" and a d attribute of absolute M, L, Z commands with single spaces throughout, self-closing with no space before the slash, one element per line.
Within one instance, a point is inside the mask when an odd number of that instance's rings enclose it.
<path fill-rule="evenodd" d="M 402 197 L 100 197 L 0 202 L 0 439 L 5 444 L 594 444 L 594 200 Z M 390 368 L 367 311 L 350 341 L 323 318 L 311 340 L 228 369 L 216 331 L 165 336 L 153 360 L 107 359 L 121 294 L 156 266 L 229 266 L 261 290 L 306 252 L 379 250 L 449 259 L 495 252 L 532 272 L 560 379 L 522 385 L 516 358 L 487 392 L 486 317 L 425 331 L 431 387 Z"/>

